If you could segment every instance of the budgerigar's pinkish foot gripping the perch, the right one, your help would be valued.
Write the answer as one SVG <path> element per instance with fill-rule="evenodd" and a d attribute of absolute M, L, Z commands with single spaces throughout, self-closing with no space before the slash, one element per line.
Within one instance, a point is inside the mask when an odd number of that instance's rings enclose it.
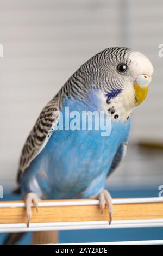
<path fill-rule="evenodd" d="M 112 197 L 110 196 L 110 193 L 108 192 L 108 190 L 103 190 L 101 193 L 99 193 L 98 199 L 99 199 L 101 214 L 103 214 L 105 204 L 109 208 L 109 225 L 110 225 L 112 221 L 112 212 L 113 212 Z"/>

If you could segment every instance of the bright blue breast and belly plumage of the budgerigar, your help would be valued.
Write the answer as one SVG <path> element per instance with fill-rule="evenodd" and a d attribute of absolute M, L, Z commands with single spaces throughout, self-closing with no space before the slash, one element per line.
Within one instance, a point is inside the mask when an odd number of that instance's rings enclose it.
<path fill-rule="evenodd" d="M 96 108 L 94 103 L 66 99 L 62 113 L 65 106 L 70 112 L 89 111 Z M 28 192 L 35 192 L 42 199 L 96 196 L 104 188 L 112 159 L 121 143 L 127 141 L 129 130 L 130 120 L 113 121 L 107 137 L 101 136 L 101 130 L 54 131 L 23 175 L 23 196 Z"/>

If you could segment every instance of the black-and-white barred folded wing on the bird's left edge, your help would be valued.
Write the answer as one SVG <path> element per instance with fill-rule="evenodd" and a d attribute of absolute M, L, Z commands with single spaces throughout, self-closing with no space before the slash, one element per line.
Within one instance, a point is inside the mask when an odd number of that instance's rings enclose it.
<path fill-rule="evenodd" d="M 18 182 L 20 182 L 22 174 L 29 167 L 32 160 L 47 144 L 55 125 L 58 123 L 60 109 L 60 97 L 56 95 L 40 113 L 22 149 L 17 176 Z"/>

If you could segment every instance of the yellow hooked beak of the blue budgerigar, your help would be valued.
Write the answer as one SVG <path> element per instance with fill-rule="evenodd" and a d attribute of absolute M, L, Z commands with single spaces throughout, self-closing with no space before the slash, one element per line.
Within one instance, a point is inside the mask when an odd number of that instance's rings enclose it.
<path fill-rule="evenodd" d="M 140 105 L 143 100 L 146 99 L 148 93 L 148 84 L 146 86 L 141 86 L 137 83 L 134 83 L 135 97 L 137 105 Z"/>

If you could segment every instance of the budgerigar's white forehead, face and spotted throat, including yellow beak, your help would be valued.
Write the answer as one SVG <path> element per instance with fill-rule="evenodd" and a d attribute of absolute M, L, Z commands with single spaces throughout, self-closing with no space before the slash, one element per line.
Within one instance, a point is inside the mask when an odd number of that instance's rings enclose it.
<path fill-rule="evenodd" d="M 127 63 L 123 64 L 118 63 L 116 69 L 120 79 L 124 79 L 124 88 L 117 97 L 110 100 L 109 106 L 104 104 L 105 109 L 109 107 L 112 112 L 115 111 L 112 119 L 116 117 L 117 121 L 127 121 L 133 109 L 145 100 L 153 74 L 152 63 L 140 52 L 132 51 Z"/>

